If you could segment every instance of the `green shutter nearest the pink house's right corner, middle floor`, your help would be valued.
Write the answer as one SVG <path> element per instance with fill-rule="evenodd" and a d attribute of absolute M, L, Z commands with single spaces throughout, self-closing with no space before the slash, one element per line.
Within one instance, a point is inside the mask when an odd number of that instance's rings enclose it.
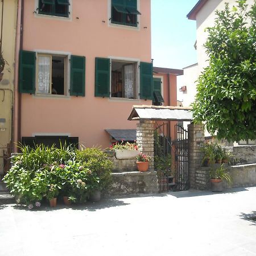
<path fill-rule="evenodd" d="M 151 100 L 153 90 L 153 66 L 152 63 L 141 62 L 141 98 Z"/>

